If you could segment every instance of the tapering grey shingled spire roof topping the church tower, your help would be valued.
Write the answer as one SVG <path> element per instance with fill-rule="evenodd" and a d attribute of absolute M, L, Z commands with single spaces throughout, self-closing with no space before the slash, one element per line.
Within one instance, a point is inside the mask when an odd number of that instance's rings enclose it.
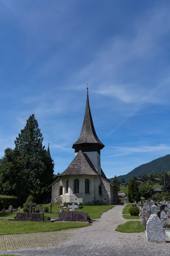
<path fill-rule="evenodd" d="M 82 131 L 80 133 L 79 139 L 73 144 L 72 148 L 78 148 L 79 144 L 88 144 L 88 145 L 95 145 L 99 149 L 104 148 L 105 145 L 99 140 L 97 137 L 96 131 L 94 129 L 93 119 L 91 116 L 91 110 L 89 105 L 88 99 L 88 84 L 87 84 L 87 100 L 86 100 L 86 107 L 85 107 L 85 116 L 82 125 Z M 86 146 L 86 145 L 83 146 Z"/>

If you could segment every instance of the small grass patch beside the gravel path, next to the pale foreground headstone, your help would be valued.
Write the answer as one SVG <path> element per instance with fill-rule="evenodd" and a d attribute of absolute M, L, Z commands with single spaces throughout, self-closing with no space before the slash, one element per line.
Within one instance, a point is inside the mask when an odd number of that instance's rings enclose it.
<path fill-rule="evenodd" d="M 140 221 L 127 221 L 119 225 L 116 231 L 122 233 L 141 233 L 144 232 L 144 227 Z"/>

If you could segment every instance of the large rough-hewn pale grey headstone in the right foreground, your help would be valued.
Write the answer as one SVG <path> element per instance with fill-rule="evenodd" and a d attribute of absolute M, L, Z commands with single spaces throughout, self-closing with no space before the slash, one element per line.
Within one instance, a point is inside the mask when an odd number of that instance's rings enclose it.
<path fill-rule="evenodd" d="M 152 214 L 147 221 L 146 234 L 148 242 L 161 242 L 165 243 L 165 230 L 159 218 Z"/>

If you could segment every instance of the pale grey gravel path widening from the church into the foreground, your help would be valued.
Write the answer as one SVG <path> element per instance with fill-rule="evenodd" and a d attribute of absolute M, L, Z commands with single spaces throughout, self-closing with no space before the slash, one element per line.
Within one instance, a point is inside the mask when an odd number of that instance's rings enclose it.
<path fill-rule="evenodd" d="M 105 212 L 92 226 L 77 229 L 64 243 L 57 247 L 22 249 L 1 252 L 22 256 L 164 256 L 170 244 L 147 243 L 145 233 L 120 233 L 115 229 L 126 221 L 122 217 L 124 206 L 117 205 Z M 130 220 L 131 221 L 131 220 Z M 137 220 L 135 220 L 137 221 Z"/>

